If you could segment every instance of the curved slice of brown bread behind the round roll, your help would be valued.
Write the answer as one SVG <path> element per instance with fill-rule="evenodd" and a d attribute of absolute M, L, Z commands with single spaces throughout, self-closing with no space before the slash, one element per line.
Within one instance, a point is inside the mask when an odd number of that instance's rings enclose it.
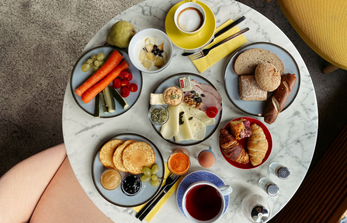
<path fill-rule="evenodd" d="M 282 60 L 276 56 L 276 54 L 259 48 L 249 49 L 242 52 L 236 57 L 233 68 L 235 73 L 238 75 L 253 75 L 255 68 L 260 63 L 265 62 L 273 64 L 278 69 L 281 76 L 285 73 L 285 66 L 283 65 Z"/>

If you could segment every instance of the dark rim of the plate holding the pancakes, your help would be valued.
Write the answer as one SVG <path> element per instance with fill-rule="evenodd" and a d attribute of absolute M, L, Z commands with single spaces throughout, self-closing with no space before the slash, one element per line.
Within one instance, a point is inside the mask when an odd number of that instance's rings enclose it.
<path fill-rule="evenodd" d="M 151 140 L 149 140 L 147 137 L 145 137 L 145 136 L 143 136 L 143 135 L 140 135 L 140 134 L 137 134 L 137 133 L 133 133 L 133 132 L 119 133 L 119 134 L 116 134 L 116 135 L 114 135 L 114 136 L 111 136 L 111 137 L 109 137 L 108 139 L 106 139 L 103 143 L 101 143 L 100 146 L 96 149 L 96 151 L 95 151 L 95 153 L 94 153 L 94 156 L 93 156 L 92 168 L 91 168 L 91 170 L 92 170 L 92 180 L 93 180 L 93 184 L 94 184 L 95 189 L 98 191 L 98 193 L 99 193 L 106 201 L 110 202 L 111 204 L 116 205 L 116 206 L 118 206 L 118 207 L 123 207 L 123 208 L 133 208 L 133 207 L 137 207 L 137 206 L 143 205 L 143 204 L 147 203 L 148 201 L 150 201 L 153 197 L 155 197 L 155 196 L 158 194 L 158 192 L 160 191 L 161 186 L 160 186 L 160 187 L 158 186 L 158 189 L 157 189 L 156 192 L 153 194 L 153 196 L 151 196 L 150 198 L 148 198 L 146 201 L 144 201 L 144 202 L 142 202 L 142 203 L 138 203 L 138 204 L 134 204 L 134 205 L 119 205 L 119 204 L 117 204 L 117 203 L 111 201 L 111 200 L 110 200 L 109 198 L 107 198 L 106 196 L 104 196 L 104 194 L 102 194 L 102 193 L 100 192 L 99 188 L 96 186 L 96 183 L 95 183 L 94 162 L 95 162 L 95 159 L 96 159 L 97 157 L 99 157 L 99 156 L 98 156 L 98 152 L 100 151 L 101 147 L 102 147 L 103 145 L 105 145 L 107 142 L 109 142 L 110 140 L 113 140 L 115 137 L 119 137 L 119 136 L 122 136 L 122 135 L 126 135 L 126 136 L 127 136 L 127 135 L 135 135 L 135 136 L 138 136 L 138 137 L 140 137 L 140 138 L 145 138 L 146 140 L 148 140 L 148 141 L 149 141 L 150 143 L 152 143 L 152 144 L 155 146 L 155 148 L 157 149 L 157 151 L 158 151 L 158 153 L 159 153 L 159 155 L 160 155 L 160 157 L 161 157 L 163 167 L 165 167 L 165 164 L 164 164 L 163 155 L 162 155 L 162 153 L 160 152 L 160 150 L 159 150 L 159 148 L 157 147 L 157 145 L 154 144 L 154 143 L 153 143 Z M 105 167 L 105 168 L 106 168 L 106 167 Z M 164 173 L 163 173 L 163 175 L 164 175 L 164 174 L 165 174 L 165 168 L 163 168 L 163 171 L 164 171 Z M 135 174 L 135 175 L 137 175 L 137 174 Z M 163 179 L 160 179 L 160 185 L 162 185 L 162 184 L 163 184 Z M 126 195 L 125 195 L 125 196 L 126 196 Z"/>

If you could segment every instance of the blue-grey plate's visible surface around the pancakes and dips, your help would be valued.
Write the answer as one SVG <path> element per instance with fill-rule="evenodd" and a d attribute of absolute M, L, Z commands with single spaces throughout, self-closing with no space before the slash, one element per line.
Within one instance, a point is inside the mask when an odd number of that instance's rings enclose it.
<path fill-rule="evenodd" d="M 101 173 L 106 169 L 106 167 L 104 167 L 102 163 L 100 162 L 99 152 L 100 152 L 100 149 L 103 147 L 103 145 L 105 145 L 108 141 L 114 140 L 114 139 L 120 139 L 122 141 L 135 140 L 137 142 L 148 143 L 150 146 L 152 146 L 154 150 L 154 154 L 156 156 L 155 163 L 158 164 L 159 166 L 159 172 L 156 175 L 160 178 L 164 177 L 164 171 L 165 171 L 162 154 L 160 153 L 158 147 L 146 137 L 135 134 L 135 133 L 122 133 L 107 139 L 103 144 L 100 145 L 100 147 L 98 148 L 98 150 L 96 151 L 94 155 L 93 163 L 92 163 L 92 178 L 93 178 L 94 185 L 96 189 L 98 190 L 98 192 L 100 193 L 100 195 L 103 196 L 108 202 L 120 207 L 132 208 L 132 207 L 142 205 L 148 202 L 153 196 L 155 196 L 158 193 L 160 186 L 153 187 L 150 182 L 142 183 L 141 190 L 138 194 L 134 196 L 127 196 L 123 194 L 123 192 L 121 191 L 120 185 L 115 190 L 106 190 L 100 184 Z M 122 178 L 126 176 L 127 174 L 129 174 L 127 172 L 121 172 L 121 171 L 119 171 L 119 173 Z M 142 175 L 143 175 L 142 173 L 137 174 L 138 177 L 141 177 Z M 162 183 L 163 183 L 163 179 L 160 179 L 160 185 L 162 185 Z"/>

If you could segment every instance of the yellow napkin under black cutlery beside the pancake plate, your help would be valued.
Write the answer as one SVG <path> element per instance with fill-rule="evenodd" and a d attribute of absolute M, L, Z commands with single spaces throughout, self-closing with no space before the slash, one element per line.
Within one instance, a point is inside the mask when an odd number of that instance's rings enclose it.
<path fill-rule="evenodd" d="M 164 178 L 167 178 L 168 175 L 169 175 L 169 173 L 170 173 L 170 171 L 169 171 L 168 166 L 167 166 L 166 163 L 164 164 L 164 166 L 165 166 Z M 162 206 L 165 204 L 165 202 L 170 198 L 170 196 L 173 194 L 173 192 L 177 189 L 178 184 L 181 182 L 182 178 L 183 178 L 183 177 L 181 177 L 181 176 L 179 177 L 179 179 L 177 180 L 177 182 L 176 182 L 175 184 L 173 184 L 173 186 L 170 188 L 170 190 L 168 191 L 168 193 L 166 193 L 166 194 L 164 195 L 164 197 L 162 197 L 162 199 L 161 199 L 161 200 L 157 203 L 157 205 L 152 209 L 152 211 L 151 211 L 150 213 L 148 213 L 148 215 L 147 215 L 146 218 L 145 218 L 145 220 L 146 220 L 147 222 L 150 222 L 150 221 L 153 219 L 153 217 L 154 217 L 154 216 L 157 214 L 157 212 L 162 208 Z M 162 184 L 162 185 L 165 184 L 165 181 L 166 181 L 166 180 L 163 181 L 163 184 Z M 149 183 L 149 182 L 148 182 L 148 183 Z M 140 205 L 140 206 L 137 206 L 137 207 L 133 207 L 132 209 L 134 209 L 135 212 L 139 212 L 139 211 L 141 210 L 141 208 L 142 208 L 143 206 L 145 206 L 145 205 L 146 205 L 146 204 Z"/>

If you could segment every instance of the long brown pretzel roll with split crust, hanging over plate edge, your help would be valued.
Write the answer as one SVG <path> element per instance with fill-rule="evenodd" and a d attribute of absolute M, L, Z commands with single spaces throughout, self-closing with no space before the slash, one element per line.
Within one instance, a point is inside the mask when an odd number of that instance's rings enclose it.
<path fill-rule="evenodd" d="M 272 124 L 276 120 L 277 116 L 285 107 L 295 82 L 295 74 L 288 73 L 282 78 L 280 86 L 274 91 L 271 99 L 266 105 L 264 111 L 264 121 L 266 123 Z"/>

